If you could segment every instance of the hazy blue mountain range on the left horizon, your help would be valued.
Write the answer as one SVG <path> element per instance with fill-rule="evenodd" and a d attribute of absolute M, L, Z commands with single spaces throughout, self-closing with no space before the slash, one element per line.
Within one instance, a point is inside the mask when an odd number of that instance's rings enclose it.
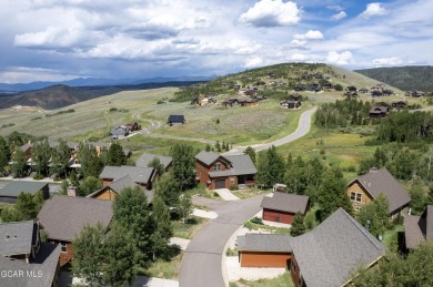
<path fill-rule="evenodd" d="M 78 78 L 61 82 L 31 82 L 31 83 L 0 83 L 0 92 L 22 92 L 44 89 L 56 84 L 63 84 L 69 86 L 108 86 L 108 85 L 135 85 L 142 83 L 165 83 L 165 82 L 185 82 L 185 81 L 209 81 L 215 78 L 212 76 L 179 76 L 179 78 L 150 78 L 150 79 L 98 79 L 98 78 Z"/>

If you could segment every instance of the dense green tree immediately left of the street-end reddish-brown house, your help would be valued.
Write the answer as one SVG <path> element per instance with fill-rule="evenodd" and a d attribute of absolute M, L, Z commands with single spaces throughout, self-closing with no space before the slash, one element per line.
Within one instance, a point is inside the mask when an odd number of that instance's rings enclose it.
<path fill-rule="evenodd" d="M 195 186 L 195 160 L 190 145 L 175 144 L 171 148 L 172 173 L 181 191 Z"/>

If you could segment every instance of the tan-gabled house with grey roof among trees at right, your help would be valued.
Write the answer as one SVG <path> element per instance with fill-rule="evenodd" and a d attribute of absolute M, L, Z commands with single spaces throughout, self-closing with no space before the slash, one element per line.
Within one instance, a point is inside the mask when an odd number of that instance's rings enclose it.
<path fill-rule="evenodd" d="M 395 217 L 397 214 L 407 214 L 411 203 L 409 192 L 386 168 L 377 170 L 374 167 L 369 173 L 356 177 L 349 183 L 346 194 L 355 211 L 374 201 L 380 194 L 385 195 L 390 202 L 389 214 L 391 217 Z"/>

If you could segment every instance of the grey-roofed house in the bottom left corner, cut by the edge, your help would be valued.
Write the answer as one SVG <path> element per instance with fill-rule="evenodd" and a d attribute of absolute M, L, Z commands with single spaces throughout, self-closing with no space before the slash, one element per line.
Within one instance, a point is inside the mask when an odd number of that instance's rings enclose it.
<path fill-rule="evenodd" d="M 40 242 L 38 223 L 0 224 L 0 235 L 1 286 L 59 286 L 60 246 Z"/>

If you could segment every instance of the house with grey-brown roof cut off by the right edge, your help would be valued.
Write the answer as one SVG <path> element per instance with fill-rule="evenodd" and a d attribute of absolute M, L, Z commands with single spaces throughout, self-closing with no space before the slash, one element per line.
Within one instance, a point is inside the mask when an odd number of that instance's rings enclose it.
<path fill-rule="evenodd" d="M 433 242 L 433 205 L 427 205 L 421 216 L 404 216 L 404 242 L 407 249 L 424 240 Z"/>

